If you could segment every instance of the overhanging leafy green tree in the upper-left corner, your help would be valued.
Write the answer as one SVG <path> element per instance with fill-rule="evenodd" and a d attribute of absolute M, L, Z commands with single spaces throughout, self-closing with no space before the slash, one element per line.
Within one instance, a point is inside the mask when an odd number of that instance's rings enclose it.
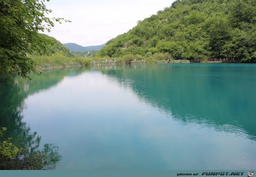
<path fill-rule="evenodd" d="M 49 1 L 49 0 L 47 0 Z M 47 51 L 52 40 L 38 32 L 54 27 L 54 21 L 63 18 L 48 18 L 52 11 L 44 5 L 45 0 L 0 0 L 0 76 L 17 71 L 24 78 L 36 71 L 36 63 L 27 54 Z"/>

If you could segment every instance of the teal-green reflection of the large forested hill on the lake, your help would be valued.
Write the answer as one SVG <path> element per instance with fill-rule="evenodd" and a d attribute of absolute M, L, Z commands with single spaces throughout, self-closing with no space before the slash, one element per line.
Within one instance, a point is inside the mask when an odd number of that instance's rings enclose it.
<path fill-rule="evenodd" d="M 251 89 L 256 86 L 255 66 L 205 65 L 162 64 L 144 68 L 132 65 L 131 68 L 140 70 L 124 72 L 119 68 L 101 72 L 115 76 L 121 84 L 128 81 L 127 85 L 139 97 L 182 119 L 184 124 L 205 122 L 216 127 L 231 124 L 244 129 L 255 140 L 256 94 Z"/>

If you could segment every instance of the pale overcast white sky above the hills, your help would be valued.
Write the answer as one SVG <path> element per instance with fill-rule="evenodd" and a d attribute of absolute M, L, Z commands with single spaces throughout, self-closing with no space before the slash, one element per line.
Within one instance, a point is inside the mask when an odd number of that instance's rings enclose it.
<path fill-rule="evenodd" d="M 51 32 L 44 32 L 61 43 L 81 46 L 102 45 L 116 36 L 128 32 L 174 0 L 50 0 L 45 1 L 52 13 L 50 18 L 64 18 L 71 23 L 55 23 Z"/>

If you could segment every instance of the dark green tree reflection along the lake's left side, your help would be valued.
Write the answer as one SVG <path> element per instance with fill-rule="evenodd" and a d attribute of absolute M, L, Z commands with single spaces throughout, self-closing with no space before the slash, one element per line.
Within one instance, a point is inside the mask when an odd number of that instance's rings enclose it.
<path fill-rule="evenodd" d="M 81 73 L 81 68 L 76 72 Z M 58 73 L 57 77 L 56 73 Z M 65 75 L 69 71 L 63 70 L 62 73 Z M 61 77 L 62 75 L 59 73 L 59 70 L 56 69 L 46 70 L 45 75 L 42 76 L 33 75 L 33 81 L 22 79 L 15 73 L 12 73 L 11 77 L 0 78 L 0 126 L 7 128 L 1 141 L 8 137 L 13 137 L 12 143 L 17 147 L 29 148 L 28 151 L 23 152 L 21 157 L 23 159 L 29 158 L 31 164 L 33 163 L 31 159 L 37 158 L 40 153 L 44 153 L 45 155 L 39 159 L 39 161 L 42 159 L 45 161 L 43 166 L 38 166 L 40 169 L 55 168 L 61 159 L 61 155 L 58 155 L 58 147 L 53 144 L 41 144 L 41 136 L 37 134 L 36 130 L 31 131 L 30 125 L 24 121 L 23 111 L 28 109 L 25 99 L 29 95 L 40 93 L 42 90 L 55 86 L 63 79 Z M 26 164 L 26 169 L 30 167 L 37 169 L 36 164 L 34 164 L 35 166 L 29 166 L 31 164 Z M 16 166 L 12 165 L 12 163 L 1 163 L 0 169 L 25 168 L 24 166 L 19 167 L 19 163 L 16 163 Z"/>

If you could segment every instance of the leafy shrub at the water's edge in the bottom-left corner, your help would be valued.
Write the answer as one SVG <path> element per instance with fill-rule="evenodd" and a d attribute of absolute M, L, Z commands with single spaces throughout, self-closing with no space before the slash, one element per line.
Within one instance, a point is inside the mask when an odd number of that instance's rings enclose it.
<path fill-rule="evenodd" d="M 6 128 L 0 130 L 0 137 Z M 18 149 L 8 138 L 0 141 L 0 170 L 49 170 L 56 167 L 61 155 L 58 147 L 52 144 L 45 144 L 43 150 L 38 150 L 41 137 L 36 137 L 36 132 L 32 134 L 32 139 L 25 143 L 29 148 Z"/>

